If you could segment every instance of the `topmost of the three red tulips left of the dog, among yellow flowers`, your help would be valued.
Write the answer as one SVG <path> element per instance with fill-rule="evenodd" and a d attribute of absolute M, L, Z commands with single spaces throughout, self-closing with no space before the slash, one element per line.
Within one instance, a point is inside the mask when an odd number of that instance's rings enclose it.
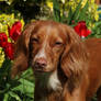
<path fill-rule="evenodd" d="M 8 26 L 9 36 L 15 42 L 21 35 L 22 23 L 20 21 L 15 22 L 12 27 Z"/>

